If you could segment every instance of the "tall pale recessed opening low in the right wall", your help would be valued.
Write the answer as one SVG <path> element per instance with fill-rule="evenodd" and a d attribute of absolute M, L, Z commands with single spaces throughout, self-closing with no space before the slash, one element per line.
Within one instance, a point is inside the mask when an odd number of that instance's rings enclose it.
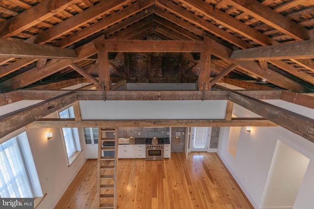
<path fill-rule="evenodd" d="M 277 140 L 260 208 L 292 209 L 309 161 L 304 155 Z"/>

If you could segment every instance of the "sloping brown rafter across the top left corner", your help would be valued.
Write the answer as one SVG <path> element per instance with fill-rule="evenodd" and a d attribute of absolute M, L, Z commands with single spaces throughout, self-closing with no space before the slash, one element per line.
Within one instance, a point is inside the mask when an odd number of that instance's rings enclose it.
<path fill-rule="evenodd" d="M 78 1 L 79 0 L 58 0 L 40 2 L 7 21 L 0 23 L 0 37 L 5 39 L 21 33 L 31 26 L 41 23 L 60 11 L 65 10 L 71 4 L 77 3 Z"/>

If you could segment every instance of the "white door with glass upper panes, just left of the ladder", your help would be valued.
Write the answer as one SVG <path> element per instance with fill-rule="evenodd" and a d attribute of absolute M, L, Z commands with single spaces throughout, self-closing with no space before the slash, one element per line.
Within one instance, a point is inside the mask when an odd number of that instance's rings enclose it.
<path fill-rule="evenodd" d="M 98 158 L 98 128 L 83 128 L 85 137 L 85 157 Z"/>

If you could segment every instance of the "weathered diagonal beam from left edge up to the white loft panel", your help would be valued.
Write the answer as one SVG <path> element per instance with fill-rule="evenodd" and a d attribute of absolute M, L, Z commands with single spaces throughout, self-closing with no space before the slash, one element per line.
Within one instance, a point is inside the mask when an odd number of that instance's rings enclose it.
<path fill-rule="evenodd" d="M 0 116 L 0 138 L 77 101 L 75 92 L 65 93 L 38 104 Z"/>

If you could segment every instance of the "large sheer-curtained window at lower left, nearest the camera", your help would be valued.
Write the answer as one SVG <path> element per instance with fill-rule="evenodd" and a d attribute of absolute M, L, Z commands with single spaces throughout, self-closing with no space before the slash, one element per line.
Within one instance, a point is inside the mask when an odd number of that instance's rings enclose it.
<path fill-rule="evenodd" d="M 26 133 L 0 144 L 0 196 L 43 196 Z"/>

